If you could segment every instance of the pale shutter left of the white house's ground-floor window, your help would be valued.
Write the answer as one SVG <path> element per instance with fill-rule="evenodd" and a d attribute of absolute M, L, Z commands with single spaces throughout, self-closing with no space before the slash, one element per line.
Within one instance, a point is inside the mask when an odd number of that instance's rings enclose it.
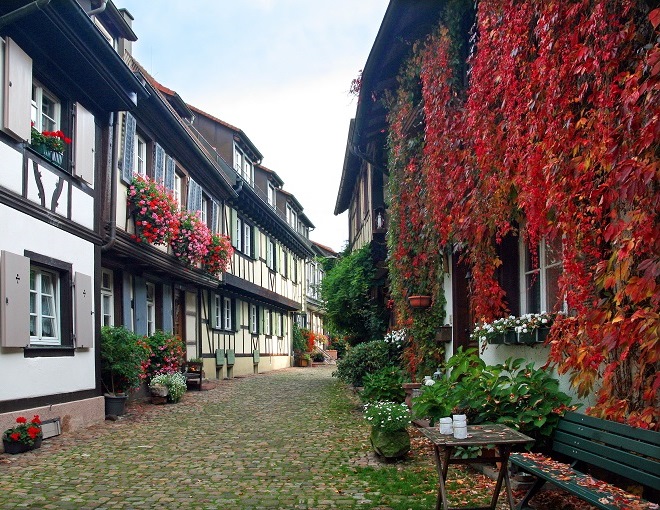
<path fill-rule="evenodd" d="M 0 346 L 30 344 L 30 259 L 0 252 Z"/>

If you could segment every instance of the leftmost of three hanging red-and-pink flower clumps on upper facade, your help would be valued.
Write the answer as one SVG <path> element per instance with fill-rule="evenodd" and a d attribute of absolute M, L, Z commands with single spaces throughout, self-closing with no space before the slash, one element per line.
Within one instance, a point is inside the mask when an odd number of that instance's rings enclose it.
<path fill-rule="evenodd" d="M 179 233 L 176 200 L 149 177 L 133 176 L 127 204 L 135 216 L 136 241 L 167 245 Z"/>

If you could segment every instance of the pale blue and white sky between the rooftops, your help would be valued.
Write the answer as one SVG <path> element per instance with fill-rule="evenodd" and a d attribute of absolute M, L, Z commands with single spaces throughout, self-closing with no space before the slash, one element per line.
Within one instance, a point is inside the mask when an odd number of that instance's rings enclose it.
<path fill-rule="evenodd" d="M 349 94 L 388 0 L 114 0 L 133 15 L 133 55 L 184 101 L 241 129 L 335 251 Z"/>

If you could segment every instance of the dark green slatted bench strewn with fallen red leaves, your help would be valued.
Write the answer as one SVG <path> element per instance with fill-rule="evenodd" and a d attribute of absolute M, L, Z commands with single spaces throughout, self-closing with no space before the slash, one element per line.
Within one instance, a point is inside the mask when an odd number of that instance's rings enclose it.
<path fill-rule="evenodd" d="M 656 499 L 660 491 L 660 432 L 566 413 L 555 431 L 552 451 L 553 456 L 559 454 L 558 457 L 563 456 L 571 464 L 534 453 L 512 453 L 509 457 L 513 465 L 536 477 L 518 509 L 531 508 L 528 506 L 530 499 L 546 482 L 597 508 L 658 508 L 654 503 L 586 474 L 583 466 L 595 466 L 596 471 L 614 473 L 633 484 L 648 487 L 651 492 L 655 491 L 653 499 Z"/>

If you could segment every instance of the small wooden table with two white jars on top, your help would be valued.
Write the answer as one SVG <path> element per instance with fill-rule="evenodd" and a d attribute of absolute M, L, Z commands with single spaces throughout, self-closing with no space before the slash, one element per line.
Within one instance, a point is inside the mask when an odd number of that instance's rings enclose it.
<path fill-rule="evenodd" d="M 438 499 L 435 506 L 436 510 L 452 510 L 457 508 L 495 510 L 497 498 L 499 497 L 500 489 L 502 488 L 502 481 L 504 481 L 504 484 L 506 485 L 509 506 L 514 508 L 513 496 L 511 494 L 511 483 L 509 481 L 509 454 L 511 453 L 511 447 L 513 445 L 534 441 L 531 437 L 509 428 L 506 425 L 468 425 L 468 437 L 466 439 L 455 439 L 453 435 L 440 434 L 440 430 L 437 427 L 423 427 L 419 430 L 433 443 L 435 463 L 438 470 Z M 454 449 L 459 446 L 478 446 L 483 448 L 487 445 L 492 445 L 497 449 L 498 454 L 496 457 L 476 457 L 472 459 L 452 458 Z M 501 462 L 501 467 L 495 483 L 495 489 L 493 490 L 493 497 L 491 498 L 490 506 L 449 506 L 449 503 L 447 502 L 447 489 L 445 488 L 449 464 L 493 464 L 495 462 Z"/>

